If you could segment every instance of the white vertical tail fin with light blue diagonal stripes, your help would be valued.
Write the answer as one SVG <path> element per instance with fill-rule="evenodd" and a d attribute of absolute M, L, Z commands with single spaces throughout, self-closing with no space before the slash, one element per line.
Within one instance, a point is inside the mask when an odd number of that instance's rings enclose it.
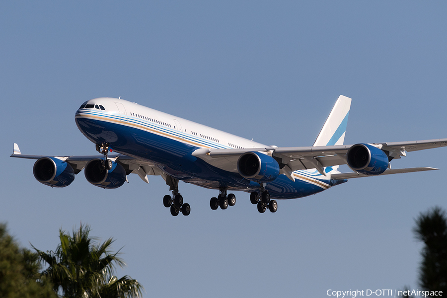
<path fill-rule="evenodd" d="M 351 98 L 340 95 L 313 146 L 343 145 Z"/>

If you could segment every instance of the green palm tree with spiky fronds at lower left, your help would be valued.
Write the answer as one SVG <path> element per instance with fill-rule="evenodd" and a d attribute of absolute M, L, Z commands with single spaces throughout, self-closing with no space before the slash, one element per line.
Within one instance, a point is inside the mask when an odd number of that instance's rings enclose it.
<path fill-rule="evenodd" d="M 134 298 L 142 295 L 143 286 L 130 277 L 117 279 L 113 275 L 116 265 L 125 263 L 111 253 L 113 239 L 97 243 L 89 237 L 90 227 L 80 225 L 73 236 L 59 230 L 61 243 L 56 251 L 37 251 L 48 268 L 42 272 L 53 282 L 53 290 L 64 298 Z"/>

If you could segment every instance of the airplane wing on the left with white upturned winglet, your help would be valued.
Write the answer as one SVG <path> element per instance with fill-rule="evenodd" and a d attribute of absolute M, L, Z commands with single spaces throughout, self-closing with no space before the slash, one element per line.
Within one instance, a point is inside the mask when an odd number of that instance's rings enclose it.
<path fill-rule="evenodd" d="M 50 155 L 25 155 L 21 154 L 20 149 L 18 148 L 18 145 L 14 143 L 14 151 L 10 155 L 10 157 L 17 157 L 17 158 L 26 158 L 26 159 L 39 159 L 42 157 L 54 157 L 58 158 L 62 161 L 66 161 L 69 163 L 73 169 L 74 173 L 79 173 L 87 164 L 88 161 L 91 159 L 99 158 L 103 159 L 103 155 L 82 155 L 82 156 L 50 156 Z M 135 173 L 140 176 L 143 181 L 146 183 L 149 183 L 149 179 L 147 175 L 155 175 L 155 176 L 162 176 L 165 178 L 166 174 L 160 170 L 153 162 L 150 162 L 145 159 L 138 159 L 135 157 L 122 155 L 122 154 L 110 154 L 108 155 L 108 158 L 120 163 L 124 169 L 126 170 L 126 174 Z M 165 179 L 166 180 L 166 179 Z"/>

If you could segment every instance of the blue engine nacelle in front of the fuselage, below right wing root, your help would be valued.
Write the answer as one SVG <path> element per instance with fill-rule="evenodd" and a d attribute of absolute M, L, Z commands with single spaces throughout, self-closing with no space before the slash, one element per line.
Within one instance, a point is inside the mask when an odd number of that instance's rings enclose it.
<path fill-rule="evenodd" d="M 273 181 L 279 175 L 279 164 L 271 156 L 259 152 L 246 152 L 237 160 L 237 170 L 242 177 L 256 181 Z"/>

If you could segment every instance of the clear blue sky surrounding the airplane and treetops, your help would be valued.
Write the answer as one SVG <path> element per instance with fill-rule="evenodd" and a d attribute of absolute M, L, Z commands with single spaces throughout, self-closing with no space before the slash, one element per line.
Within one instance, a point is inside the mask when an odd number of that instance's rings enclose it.
<path fill-rule="evenodd" d="M 445 1 L 1 1 L 0 222 L 23 246 L 90 224 L 114 237 L 145 297 L 327 297 L 418 289 L 414 218 L 447 209 L 447 149 L 393 168 L 440 171 L 350 180 L 259 214 L 247 193 L 212 211 L 217 192 L 169 189 L 137 175 L 115 190 L 83 172 L 37 182 L 24 154 L 90 155 L 74 112 L 92 98 L 135 101 L 276 146 L 313 144 L 340 94 L 353 99 L 345 144 L 447 138 Z M 348 171 L 348 168 L 344 168 Z"/>

